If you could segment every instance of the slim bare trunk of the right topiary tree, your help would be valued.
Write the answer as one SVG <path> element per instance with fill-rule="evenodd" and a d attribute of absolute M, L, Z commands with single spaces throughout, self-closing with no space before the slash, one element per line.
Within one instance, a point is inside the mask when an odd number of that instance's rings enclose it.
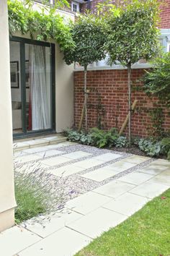
<path fill-rule="evenodd" d="M 131 64 L 128 65 L 128 107 L 129 107 L 129 123 L 128 123 L 128 135 L 129 135 L 129 147 L 131 146 Z"/>

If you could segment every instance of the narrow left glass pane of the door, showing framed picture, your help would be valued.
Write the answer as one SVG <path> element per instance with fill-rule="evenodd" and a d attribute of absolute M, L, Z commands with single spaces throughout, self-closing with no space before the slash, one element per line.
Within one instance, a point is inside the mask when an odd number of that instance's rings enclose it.
<path fill-rule="evenodd" d="M 14 133 L 20 133 L 22 132 L 20 44 L 13 41 L 10 41 L 10 70 L 12 90 L 12 126 Z"/>

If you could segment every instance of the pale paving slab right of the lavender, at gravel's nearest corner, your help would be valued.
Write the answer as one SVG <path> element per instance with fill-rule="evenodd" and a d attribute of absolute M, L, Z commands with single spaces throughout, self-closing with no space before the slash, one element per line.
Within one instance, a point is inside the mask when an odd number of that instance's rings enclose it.
<path fill-rule="evenodd" d="M 79 197 L 66 202 L 66 208 L 74 210 L 77 213 L 87 214 L 110 200 L 112 200 L 110 197 L 99 195 L 94 192 L 87 192 L 84 195 L 80 195 Z"/>

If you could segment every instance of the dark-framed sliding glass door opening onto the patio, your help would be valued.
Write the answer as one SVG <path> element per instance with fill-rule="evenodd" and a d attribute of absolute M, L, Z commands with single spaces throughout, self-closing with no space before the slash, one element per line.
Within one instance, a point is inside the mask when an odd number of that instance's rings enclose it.
<path fill-rule="evenodd" d="M 10 66 L 14 137 L 55 130 L 55 48 L 12 38 Z"/>

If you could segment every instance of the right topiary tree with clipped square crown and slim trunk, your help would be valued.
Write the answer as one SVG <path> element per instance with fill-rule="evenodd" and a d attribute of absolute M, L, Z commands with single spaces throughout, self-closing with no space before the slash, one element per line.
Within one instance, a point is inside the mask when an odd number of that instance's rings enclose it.
<path fill-rule="evenodd" d="M 130 3 L 128 3 L 130 2 Z M 129 145 L 131 144 L 131 70 L 140 59 L 151 59 L 158 51 L 158 2 L 132 0 L 114 7 L 107 15 L 106 49 L 109 62 L 119 61 L 128 69 Z"/>

